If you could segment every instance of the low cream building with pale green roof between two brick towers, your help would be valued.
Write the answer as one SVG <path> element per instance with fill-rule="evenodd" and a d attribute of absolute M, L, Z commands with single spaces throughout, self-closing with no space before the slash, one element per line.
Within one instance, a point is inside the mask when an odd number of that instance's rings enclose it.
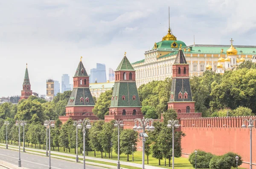
<path fill-rule="evenodd" d="M 113 87 L 114 82 L 109 82 L 109 80 L 106 83 L 90 83 L 90 92 L 98 99 L 101 93 L 111 90 Z"/>

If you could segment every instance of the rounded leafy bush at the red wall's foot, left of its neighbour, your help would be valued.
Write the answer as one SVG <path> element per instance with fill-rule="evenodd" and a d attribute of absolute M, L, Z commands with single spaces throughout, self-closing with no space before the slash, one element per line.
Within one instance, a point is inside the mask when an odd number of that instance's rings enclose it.
<path fill-rule="evenodd" d="M 209 163 L 214 155 L 212 155 L 212 153 L 210 152 L 204 152 L 202 150 L 197 150 L 197 151 L 198 151 L 196 155 L 197 168 L 208 169 Z M 195 152 L 189 155 L 189 162 L 195 168 Z"/>

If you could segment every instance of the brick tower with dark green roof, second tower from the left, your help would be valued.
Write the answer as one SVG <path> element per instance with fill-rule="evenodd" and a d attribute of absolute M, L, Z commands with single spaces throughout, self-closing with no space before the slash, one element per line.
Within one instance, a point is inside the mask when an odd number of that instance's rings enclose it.
<path fill-rule="evenodd" d="M 94 105 L 93 96 L 89 89 L 89 76 L 80 59 L 75 76 L 73 77 L 73 90 L 66 106 L 66 115 L 59 116 L 59 119 L 62 122 L 67 121 L 68 118 L 72 118 L 73 120 L 84 118 L 96 120 L 98 118 L 92 111 Z"/>

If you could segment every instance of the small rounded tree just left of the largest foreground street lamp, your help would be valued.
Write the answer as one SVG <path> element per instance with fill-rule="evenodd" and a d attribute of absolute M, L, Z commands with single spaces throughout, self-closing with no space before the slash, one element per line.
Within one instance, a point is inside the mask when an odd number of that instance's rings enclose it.
<path fill-rule="evenodd" d="M 138 133 L 131 129 L 123 130 L 120 134 L 120 149 L 127 155 L 127 161 L 132 154 L 132 145 L 134 145 L 134 152 L 137 151 L 137 138 Z"/>

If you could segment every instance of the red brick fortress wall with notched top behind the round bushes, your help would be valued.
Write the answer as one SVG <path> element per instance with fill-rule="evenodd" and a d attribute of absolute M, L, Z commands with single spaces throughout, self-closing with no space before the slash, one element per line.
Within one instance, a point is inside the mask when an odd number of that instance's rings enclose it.
<path fill-rule="evenodd" d="M 242 156 L 244 163 L 241 167 L 249 168 L 250 163 L 250 130 L 243 129 L 244 118 L 239 117 L 212 117 L 212 118 L 181 118 L 181 131 L 186 136 L 181 140 L 182 156 L 188 157 L 195 149 L 223 155 L 235 152 Z M 248 126 L 248 123 L 245 123 Z M 256 169 L 256 122 L 252 129 L 253 169 Z"/>

